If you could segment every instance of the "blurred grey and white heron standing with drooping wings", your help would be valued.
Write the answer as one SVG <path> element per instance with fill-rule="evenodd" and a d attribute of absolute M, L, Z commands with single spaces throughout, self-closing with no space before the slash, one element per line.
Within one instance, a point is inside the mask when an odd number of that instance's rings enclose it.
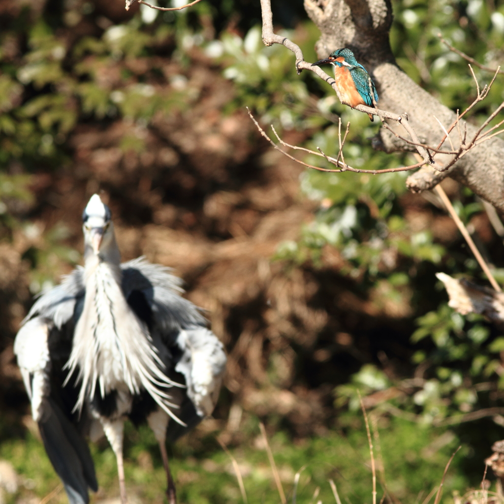
<path fill-rule="evenodd" d="M 33 304 L 14 343 L 32 415 L 71 504 L 96 491 L 86 438 L 106 436 L 127 504 L 124 421 L 147 422 L 176 504 L 166 442 L 214 410 L 226 366 L 181 280 L 141 257 L 120 262 L 111 212 L 95 194 L 83 212 L 84 266 Z"/>

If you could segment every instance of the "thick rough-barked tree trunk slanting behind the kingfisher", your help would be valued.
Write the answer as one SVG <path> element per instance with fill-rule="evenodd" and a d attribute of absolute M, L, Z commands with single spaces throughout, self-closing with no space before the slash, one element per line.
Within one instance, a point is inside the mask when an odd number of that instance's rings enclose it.
<path fill-rule="evenodd" d="M 423 143 L 437 145 L 442 137 L 434 115 L 448 127 L 455 112 L 439 103 L 433 96 L 415 84 L 396 64 L 389 43 L 392 24 L 392 6 L 389 0 L 304 0 L 304 8 L 321 31 L 317 43 L 320 58 L 334 49 L 348 47 L 357 60 L 371 73 L 380 96 L 380 108 L 401 114 L 408 119 Z M 461 104 L 461 109 L 465 108 Z M 390 127 L 404 135 L 401 126 L 393 121 Z M 461 120 L 461 130 L 467 128 L 471 138 L 476 128 Z M 450 135 L 457 148 L 459 133 Z M 375 148 L 386 152 L 412 151 L 414 148 L 382 128 L 374 139 Z M 445 143 L 445 146 L 447 143 Z M 449 144 L 448 144 L 449 145 Z M 436 156 L 445 162 L 448 156 Z M 407 185 L 413 192 L 431 189 L 446 176 L 468 186 L 474 193 L 490 202 L 504 214 L 504 141 L 494 137 L 468 152 L 445 172 L 422 167 L 410 175 Z"/>

